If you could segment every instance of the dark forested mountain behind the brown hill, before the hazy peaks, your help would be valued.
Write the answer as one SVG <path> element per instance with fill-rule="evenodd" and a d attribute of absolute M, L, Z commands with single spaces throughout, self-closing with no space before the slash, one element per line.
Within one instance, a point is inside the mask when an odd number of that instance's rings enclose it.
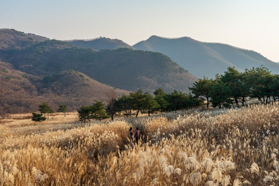
<path fill-rule="evenodd" d="M 105 84 L 129 91 L 188 91 L 196 78 L 169 57 L 129 48 L 96 51 L 46 40 L 5 55 L 20 71 L 41 76 L 74 69 Z"/>

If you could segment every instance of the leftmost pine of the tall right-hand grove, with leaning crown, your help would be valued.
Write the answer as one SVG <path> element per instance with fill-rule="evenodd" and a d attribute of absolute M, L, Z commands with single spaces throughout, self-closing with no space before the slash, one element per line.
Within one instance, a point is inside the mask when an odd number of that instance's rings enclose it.
<path fill-rule="evenodd" d="M 209 92 L 211 86 L 213 85 L 213 80 L 208 78 L 199 79 L 194 82 L 193 87 L 189 88 L 195 97 L 204 97 L 206 99 L 206 107 L 209 107 Z"/>

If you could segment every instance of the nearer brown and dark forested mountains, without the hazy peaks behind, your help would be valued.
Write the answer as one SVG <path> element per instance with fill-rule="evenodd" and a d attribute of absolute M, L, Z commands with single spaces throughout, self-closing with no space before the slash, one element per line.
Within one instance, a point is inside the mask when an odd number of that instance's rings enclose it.
<path fill-rule="evenodd" d="M 139 89 L 152 93 L 159 87 L 166 92 L 185 92 L 196 80 L 166 55 L 116 48 L 79 47 L 0 29 L 0 86 L 7 87 L 1 89 L 0 107 L 9 112 L 29 112 L 45 101 L 54 108 L 66 103 L 76 109 L 93 100 L 106 102 L 106 92 L 113 88 L 118 88 L 118 95 Z M 14 85 L 17 88 L 10 88 Z"/>

